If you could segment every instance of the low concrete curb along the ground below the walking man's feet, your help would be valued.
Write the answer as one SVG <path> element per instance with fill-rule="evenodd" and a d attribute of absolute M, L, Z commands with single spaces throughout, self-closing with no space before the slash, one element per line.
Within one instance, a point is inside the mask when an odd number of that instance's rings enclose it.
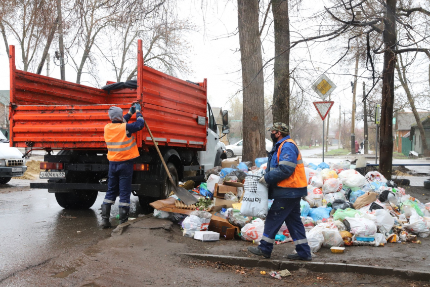
<path fill-rule="evenodd" d="M 367 275 L 381 275 L 381 276 L 398 276 L 405 279 L 428 281 L 430 280 L 430 272 L 428 271 L 415 271 L 404 270 L 392 267 L 378 267 L 370 265 L 357 265 L 345 263 L 328 263 L 328 262 L 308 262 L 308 261 L 280 261 L 260 258 L 248 258 L 237 256 L 224 256 L 212 254 L 199 254 L 199 253 L 181 253 L 181 255 L 192 257 L 195 259 L 223 262 L 226 264 L 239 265 L 243 267 L 262 267 L 271 270 L 295 271 L 300 268 L 305 268 L 314 272 L 352 272 Z"/>

